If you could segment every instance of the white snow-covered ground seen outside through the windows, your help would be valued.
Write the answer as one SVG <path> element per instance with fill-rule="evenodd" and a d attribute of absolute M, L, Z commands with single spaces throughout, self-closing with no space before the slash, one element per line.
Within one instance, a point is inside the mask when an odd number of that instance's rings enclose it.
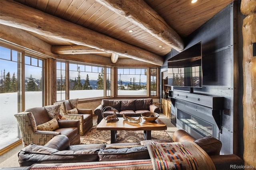
<path fill-rule="evenodd" d="M 118 95 L 147 95 L 146 90 L 118 90 Z M 42 92 L 26 92 L 26 108 L 42 107 Z M 70 99 L 102 97 L 103 90 L 70 91 Z M 0 93 L 0 149 L 18 140 L 18 93 Z"/>

